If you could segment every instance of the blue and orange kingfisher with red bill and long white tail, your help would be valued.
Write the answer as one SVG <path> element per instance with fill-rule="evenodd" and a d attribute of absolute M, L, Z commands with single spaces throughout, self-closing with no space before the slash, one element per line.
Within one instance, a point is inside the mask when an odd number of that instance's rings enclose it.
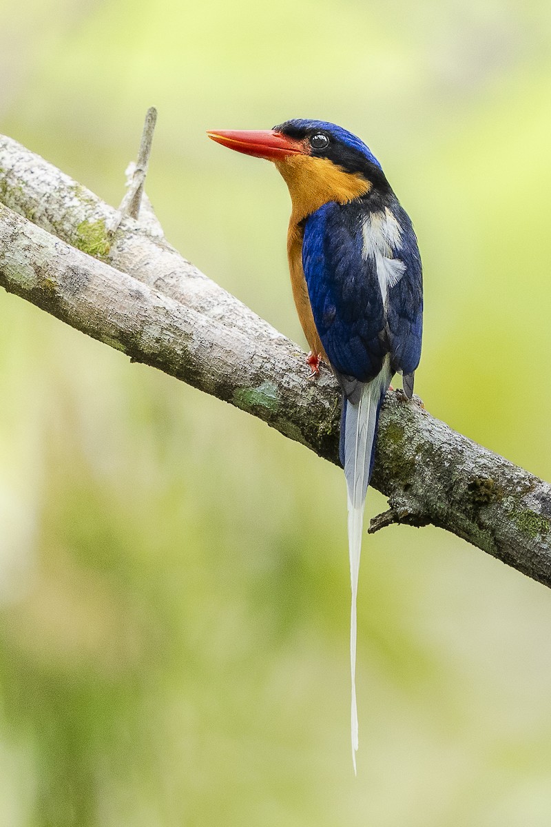
<path fill-rule="evenodd" d="M 326 121 L 292 119 L 271 130 L 207 135 L 272 161 L 291 196 L 287 258 L 292 294 L 317 375 L 333 371 L 343 396 L 340 462 L 348 494 L 351 584 L 351 742 L 356 700 L 357 596 L 363 511 L 378 418 L 392 376 L 411 399 L 420 361 L 423 285 L 411 219 L 382 166 L 359 137 Z"/>

